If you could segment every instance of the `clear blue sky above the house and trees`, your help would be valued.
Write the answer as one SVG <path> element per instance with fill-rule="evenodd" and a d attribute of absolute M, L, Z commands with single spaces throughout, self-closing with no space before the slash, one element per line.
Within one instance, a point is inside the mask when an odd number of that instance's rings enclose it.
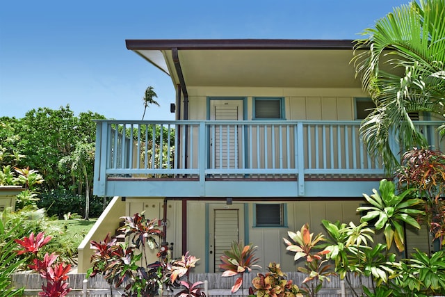
<path fill-rule="evenodd" d="M 170 78 L 125 47 L 125 39 L 356 39 L 410 0 L 2 1 L 0 117 L 70 104 L 77 115 L 140 120 L 153 86 L 172 120 Z"/>

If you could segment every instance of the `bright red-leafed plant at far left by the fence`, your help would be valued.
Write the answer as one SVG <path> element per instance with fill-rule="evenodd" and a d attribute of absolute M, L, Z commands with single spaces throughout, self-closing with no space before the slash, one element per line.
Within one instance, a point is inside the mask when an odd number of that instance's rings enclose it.
<path fill-rule="evenodd" d="M 42 284 L 42 291 L 39 296 L 46 297 L 64 297 L 71 291 L 68 287 L 68 273 L 71 270 L 70 264 L 57 262 L 58 255 L 46 253 L 43 259 L 39 259 L 38 252 L 42 246 L 46 245 L 51 240 L 50 236 L 45 237 L 43 232 L 37 234 L 31 233 L 29 237 L 24 239 L 15 239 L 15 242 L 22 246 L 24 250 L 17 250 L 17 255 L 32 255 L 33 264 L 28 267 L 37 271 L 40 277 L 46 282 Z"/>

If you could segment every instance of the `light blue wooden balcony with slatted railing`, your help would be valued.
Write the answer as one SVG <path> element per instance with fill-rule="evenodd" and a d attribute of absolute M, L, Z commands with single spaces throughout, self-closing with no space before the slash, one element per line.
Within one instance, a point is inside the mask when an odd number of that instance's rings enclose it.
<path fill-rule="evenodd" d="M 384 177 L 359 121 L 98 120 L 95 195 L 359 197 Z M 439 148 L 439 122 L 416 122 Z M 394 143 L 396 148 L 396 143 Z"/>

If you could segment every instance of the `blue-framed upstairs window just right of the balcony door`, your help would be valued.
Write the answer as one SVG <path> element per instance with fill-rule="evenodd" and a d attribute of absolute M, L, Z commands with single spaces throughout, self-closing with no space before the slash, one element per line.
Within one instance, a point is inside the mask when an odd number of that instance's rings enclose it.
<path fill-rule="evenodd" d="M 253 98 L 254 120 L 284 120 L 283 98 Z"/>

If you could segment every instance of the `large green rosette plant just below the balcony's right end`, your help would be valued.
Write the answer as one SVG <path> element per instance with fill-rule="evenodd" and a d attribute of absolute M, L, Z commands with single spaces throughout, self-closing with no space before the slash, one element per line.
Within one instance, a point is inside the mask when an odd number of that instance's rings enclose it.
<path fill-rule="evenodd" d="M 359 207 L 357 211 L 366 211 L 366 215 L 361 219 L 362 222 L 369 222 L 377 218 L 374 224 L 375 229 L 385 228 L 383 234 L 385 234 L 388 249 L 391 248 L 394 241 L 398 250 L 402 252 L 405 250 L 403 223 L 420 229 L 416 218 L 425 214 L 425 211 L 416 208 L 419 204 L 423 204 L 423 200 L 406 198 L 413 191 L 412 188 L 399 195 L 396 195 L 395 189 L 396 186 L 393 182 L 382 179 L 379 186 L 380 194 L 375 189 L 373 189 L 373 195 L 371 196 L 363 194 L 371 206 Z"/>

